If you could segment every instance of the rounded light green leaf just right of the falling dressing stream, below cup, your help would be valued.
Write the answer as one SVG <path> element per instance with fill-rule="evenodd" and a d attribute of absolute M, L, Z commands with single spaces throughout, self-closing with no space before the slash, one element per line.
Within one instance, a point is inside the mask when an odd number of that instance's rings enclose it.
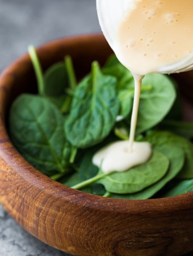
<path fill-rule="evenodd" d="M 142 86 L 152 86 L 153 89 L 141 92 L 137 134 L 157 125 L 172 108 L 176 92 L 173 81 L 161 74 L 145 76 Z"/>

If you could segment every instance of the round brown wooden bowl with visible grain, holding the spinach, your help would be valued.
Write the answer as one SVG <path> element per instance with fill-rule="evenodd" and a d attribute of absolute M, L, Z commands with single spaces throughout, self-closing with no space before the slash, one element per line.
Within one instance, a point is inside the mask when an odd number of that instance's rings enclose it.
<path fill-rule="evenodd" d="M 81 77 L 91 61 L 103 64 L 111 49 L 103 36 L 88 35 L 57 40 L 37 52 L 44 69 L 71 55 Z M 188 88 L 191 76 L 176 78 Z M 177 256 L 193 250 L 193 192 L 155 200 L 108 199 L 52 181 L 23 159 L 7 135 L 6 117 L 12 100 L 34 92 L 35 83 L 28 55 L 0 79 L 0 203 L 7 212 L 33 236 L 74 255 Z"/>

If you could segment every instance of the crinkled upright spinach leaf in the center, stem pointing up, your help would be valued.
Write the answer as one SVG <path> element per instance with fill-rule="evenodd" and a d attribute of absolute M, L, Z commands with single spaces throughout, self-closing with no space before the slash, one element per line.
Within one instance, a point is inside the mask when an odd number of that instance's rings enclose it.
<path fill-rule="evenodd" d="M 93 63 L 91 75 L 75 89 L 65 133 L 77 148 L 94 146 L 110 134 L 119 112 L 116 79 L 104 76 Z"/>

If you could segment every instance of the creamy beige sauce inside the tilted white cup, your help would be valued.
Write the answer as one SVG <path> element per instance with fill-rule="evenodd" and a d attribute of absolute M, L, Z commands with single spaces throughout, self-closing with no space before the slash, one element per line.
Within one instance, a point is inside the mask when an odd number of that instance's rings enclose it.
<path fill-rule="evenodd" d="M 146 75 L 193 51 L 192 0 L 135 1 L 117 31 L 116 54 L 132 73 Z"/>

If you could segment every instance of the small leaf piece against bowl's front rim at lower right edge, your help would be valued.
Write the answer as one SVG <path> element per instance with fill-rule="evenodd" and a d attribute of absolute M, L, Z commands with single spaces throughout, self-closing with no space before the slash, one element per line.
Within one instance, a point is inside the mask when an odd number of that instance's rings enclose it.
<path fill-rule="evenodd" d="M 193 191 L 193 179 L 172 180 L 166 188 L 163 188 L 160 197 L 178 196 Z"/>

